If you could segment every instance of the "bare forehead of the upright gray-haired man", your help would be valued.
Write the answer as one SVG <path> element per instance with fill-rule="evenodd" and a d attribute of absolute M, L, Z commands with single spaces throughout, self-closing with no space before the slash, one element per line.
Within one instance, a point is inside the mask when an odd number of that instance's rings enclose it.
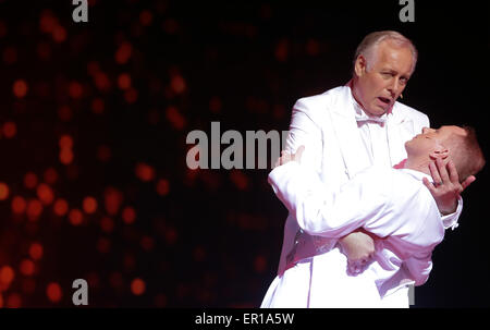
<path fill-rule="evenodd" d="M 393 40 L 383 40 L 377 47 L 377 65 L 389 66 L 399 72 L 411 72 L 412 51 L 407 46 L 401 46 Z"/>

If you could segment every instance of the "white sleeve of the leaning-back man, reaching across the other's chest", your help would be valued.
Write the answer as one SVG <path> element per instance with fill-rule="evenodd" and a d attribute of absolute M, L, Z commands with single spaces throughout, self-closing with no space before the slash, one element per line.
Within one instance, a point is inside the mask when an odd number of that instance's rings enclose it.
<path fill-rule="evenodd" d="M 366 170 L 333 191 L 296 161 L 269 174 L 269 183 L 298 225 L 308 234 L 324 237 L 342 237 L 368 222 L 379 228 L 396 221 L 390 211 L 390 180 L 389 173 L 377 175 Z"/>

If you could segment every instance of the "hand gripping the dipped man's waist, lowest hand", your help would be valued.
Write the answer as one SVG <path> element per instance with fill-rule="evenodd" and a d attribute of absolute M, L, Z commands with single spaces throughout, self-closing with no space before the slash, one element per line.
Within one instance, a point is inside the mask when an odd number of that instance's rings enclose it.
<path fill-rule="evenodd" d="M 347 257 L 347 272 L 360 273 L 371 261 L 376 252 L 375 240 L 365 230 L 356 230 L 339 240 L 342 253 Z"/>

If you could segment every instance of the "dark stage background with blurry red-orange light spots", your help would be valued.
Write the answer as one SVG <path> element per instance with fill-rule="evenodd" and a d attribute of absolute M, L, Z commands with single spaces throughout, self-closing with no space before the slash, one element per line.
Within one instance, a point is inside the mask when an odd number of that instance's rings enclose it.
<path fill-rule="evenodd" d="M 269 170 L 189 170 L 185 137 L 211 121 L 287 130 L 296 99 L 350 80 L 373 30 L 396 29 L 419 50 L 403 102 L 432 126 L 475 126 L 490 155 L 488 4 L 415 1 L 415 22 L 401 23 L 399 1 L 367 2 L 97 0 L 88 23 L 74 23 L 69 0 L 0 0 L 0 305 L 73 306 L 82 278 L 91 307 L 259 306 L 286 217 Z M 489 306 L 485 186 L 488 169 L 464 193 L 416 307 Z M 81 224 L 53 211 L 59 198 Z"/>

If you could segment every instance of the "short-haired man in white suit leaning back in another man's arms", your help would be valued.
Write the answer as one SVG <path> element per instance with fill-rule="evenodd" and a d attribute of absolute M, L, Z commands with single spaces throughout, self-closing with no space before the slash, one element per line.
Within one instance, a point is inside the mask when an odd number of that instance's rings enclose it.
<path fill-rule="evenodd" d="M 346 261 L 335 269 L 315 270 L 309 307 L 380 307 L 381 297 L 400 286 L 427 281 L 432 250 L 444 236 L 429 174 L 448 182 L 451 179 L 443 169 L 457 175 L 457 168 L 466 179 L 482 169 L 485 158 L 469 127 L 426 127 L 422 132 L 405 144 L 408 158 L 403 169 L 372 166 L 340 188 L 326 186 L 317 173 L 302 169 L 303 147 L 278 160 L 280 167 L 269 174 L 269 183 L 306 233 L 335 239 L 363 228 L 382 237 L 373 262 L 357 277 L 345 276 Z M 265 306 L 296 304 L 295 291 L 283 284 L 274 280 Z"/>

